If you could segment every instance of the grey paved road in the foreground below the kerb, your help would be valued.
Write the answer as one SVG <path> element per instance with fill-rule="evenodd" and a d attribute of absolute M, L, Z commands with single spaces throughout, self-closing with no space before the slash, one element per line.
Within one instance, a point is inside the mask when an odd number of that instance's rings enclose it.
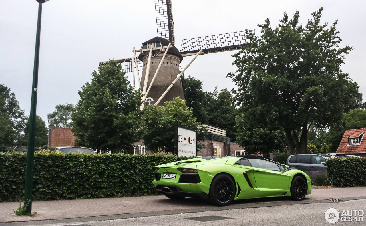
<path fill-rule="evenodd" d="M 324 213 L 330 208 L 343 210 L 363 210 L 366 218 L 366 200 L 350 200 L 340 203 L 309 203 L 279 205 L 273 207 L 240 208 L 234 210 L 205 211 L 162 216 L 101 220 L 90 222 L 68 222 L 48 224 L 47 226 L 294 226 L 294 225 L 330 225 L 325 221 Z M 341 219 L 341 218 L 340 218 Z M 33 222 L 33 225 L 38 225 Z M 41 222 L 38 222 L 41 223 Z M 342 222 L 334 225 L 366 225 L 364 221 Z"/>

